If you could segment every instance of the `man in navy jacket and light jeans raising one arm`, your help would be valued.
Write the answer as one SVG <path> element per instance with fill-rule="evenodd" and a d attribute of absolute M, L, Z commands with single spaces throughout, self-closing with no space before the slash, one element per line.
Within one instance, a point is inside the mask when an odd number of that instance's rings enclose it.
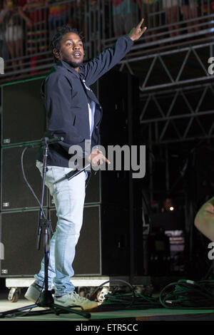
<path fill-rule="evenodd" d="M 133 41 L 146 31 L 146 27 L 141 29 L 142 24 L 143 19 L 128 36 L 118 38 L 112 48 L 86 65 L 83 65 L 82 38 L 76 29 L 61 27 L 52 40 L 56 65 L 44 80 L 42 92 L 48 119 L 46 136 L 63 138 L 61 142 L 49 146 L 46 172 L 46 186 L 53 196 L 58 217 L 56 232 L 50 243 L 49 290 L 54 283 L 54 303 L 61 306 L 75 304 L 86 310 L 98 305 L 96 301 L 76 294 L 71 283 L 75 247 L 83 221 L 87 172 L 83 171 L 71 180 L 66 178 L 66 174 L 71 172 L 72 155 L 69 149 L 78 145 L 85 164 L 108 163 L 103 153 L 94 148 L 98 144 L 102 109 L 90 86 L 131 50 Z M 86 141 L 91 143 L 89 151 L 85 150 Z M 36 166 L 41 173 L 42 161 L 39 151 Z M 26 299 L 34 302 L 39 299 L 44 287 L 44 260 L 35 279 L 25 295 Z"/>

